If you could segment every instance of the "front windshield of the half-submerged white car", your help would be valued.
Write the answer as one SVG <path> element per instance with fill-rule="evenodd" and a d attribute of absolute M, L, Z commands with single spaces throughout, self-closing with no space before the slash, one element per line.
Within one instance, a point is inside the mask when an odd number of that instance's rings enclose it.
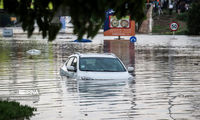
<path fill-rule="evenodd" d="M 98 58 L 84 57 L 80 58 L 79 69 L 81 71 L 96 72 L 125 72 L 126 69 L 117 58 Z"/>

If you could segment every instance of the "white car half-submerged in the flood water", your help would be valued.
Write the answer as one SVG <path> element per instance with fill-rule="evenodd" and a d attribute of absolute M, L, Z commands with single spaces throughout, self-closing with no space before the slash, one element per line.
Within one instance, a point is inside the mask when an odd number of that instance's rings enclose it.
<path fill-rule="evenodd" d="M 77 80 L 127 79 L 133 80 L 122 61 L 112 53 L 76 53 L 68 57 L 60 68 L 60 75 Z"/>

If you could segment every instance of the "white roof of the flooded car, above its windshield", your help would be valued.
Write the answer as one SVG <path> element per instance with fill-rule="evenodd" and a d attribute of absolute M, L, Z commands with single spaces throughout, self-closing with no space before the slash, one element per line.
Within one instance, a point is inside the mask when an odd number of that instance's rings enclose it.
<path fill-rule="evenodd" d="M 80 57 L 106 57 L 106 58 L 117 58 L 113 53 L 76 53 Z"/>

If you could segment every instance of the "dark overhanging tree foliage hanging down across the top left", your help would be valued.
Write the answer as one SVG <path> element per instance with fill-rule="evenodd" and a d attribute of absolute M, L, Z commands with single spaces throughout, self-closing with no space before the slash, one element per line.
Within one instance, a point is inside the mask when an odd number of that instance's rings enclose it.
<path fill-rule="evenodd" d="M 131 15 L 136 22 L 144 18 L 146 0 L 3 0 L 4 9 L 19 17 L 24 31 L 30 37 L 34 23 L 39 26 L 43 38 L 54 40 L 60 30 L 60 23 L 53 22 L 59 8 L 66 8 L 72 18 L 74 34 L 94 37 L 101 28 L 105 11 L 113 9 L 118 18 Z"/>

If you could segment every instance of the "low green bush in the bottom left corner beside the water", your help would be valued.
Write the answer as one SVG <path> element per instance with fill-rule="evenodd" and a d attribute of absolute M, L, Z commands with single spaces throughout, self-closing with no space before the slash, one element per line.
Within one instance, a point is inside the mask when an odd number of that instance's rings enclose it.
<path fill-rule="evenodd" d="M 27 105 L 20 105 L 18 102 L 0 101 L 0 120 L 29 118 L 35 110 Z"/>

